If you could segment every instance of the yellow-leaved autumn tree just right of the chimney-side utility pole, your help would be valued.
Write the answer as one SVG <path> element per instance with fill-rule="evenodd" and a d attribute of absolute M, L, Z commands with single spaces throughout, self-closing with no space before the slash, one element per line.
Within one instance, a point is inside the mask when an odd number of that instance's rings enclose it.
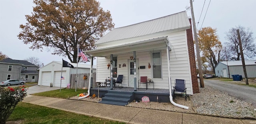
<path fill-rule="evenodd" d="M 198 43 L 202 56 L 211 65 L 215 73 L 215 66 L 220 61 L 220 51 L 222 48 L 221 42 L 218 39 L 217 29 L 211 27 L 204 27 L 198 31 Z"/>

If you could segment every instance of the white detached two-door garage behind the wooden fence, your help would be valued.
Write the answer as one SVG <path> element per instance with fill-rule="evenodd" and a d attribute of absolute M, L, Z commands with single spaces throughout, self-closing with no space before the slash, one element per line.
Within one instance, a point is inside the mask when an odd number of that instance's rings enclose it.
<path fill-rule="evenodd" d="M 62 62 L 52 61 L 39 69 L 38 85 L 50 86 L 50 83 L 54 87 L 60 87 L 60 78 L 64 77 L 61 81 L 61 87 L 67 87 L 70 83 L 71 74 L 84 74 L 90 73 L 90 65 L 70 63 L 74 68 L 63 67 Z M 76 69 L 76 65 L 78 69 Z M 92 72 L 96 72 L 95 68 L 92 68 Z"/>

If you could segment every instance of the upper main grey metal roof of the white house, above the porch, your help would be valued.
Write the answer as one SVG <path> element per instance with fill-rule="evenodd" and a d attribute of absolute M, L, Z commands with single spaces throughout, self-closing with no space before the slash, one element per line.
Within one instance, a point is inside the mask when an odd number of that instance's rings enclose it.
<path fill-rule="evenodd" d="M 180 28 L 190 28 L 190 22 L 186 11 L 125 27 L 115 28 L 96 41 L 95 45 Z"/>

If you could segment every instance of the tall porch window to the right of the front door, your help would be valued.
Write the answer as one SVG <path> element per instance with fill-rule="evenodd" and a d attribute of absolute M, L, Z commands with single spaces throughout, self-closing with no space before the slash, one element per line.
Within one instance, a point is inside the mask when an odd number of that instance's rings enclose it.
<path fill-rule="evenodd" d="M 162 78 L 161 54 L 155 52 L 153 56 L 153 78 Z"/>

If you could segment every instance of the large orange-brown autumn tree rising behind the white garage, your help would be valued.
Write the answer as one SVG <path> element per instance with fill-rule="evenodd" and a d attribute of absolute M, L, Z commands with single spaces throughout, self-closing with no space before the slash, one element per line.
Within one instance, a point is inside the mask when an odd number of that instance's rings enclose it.
<path fill-rule="evenodd" d="M 77 46 L 83 51 L 114 28 L 110 12 L 96 0 L 34 0 L 32 15 L 21 24 L 18 38 L 33 50 L 53 49 L 52 54 L 68 56 L 76 63 Z"/>

